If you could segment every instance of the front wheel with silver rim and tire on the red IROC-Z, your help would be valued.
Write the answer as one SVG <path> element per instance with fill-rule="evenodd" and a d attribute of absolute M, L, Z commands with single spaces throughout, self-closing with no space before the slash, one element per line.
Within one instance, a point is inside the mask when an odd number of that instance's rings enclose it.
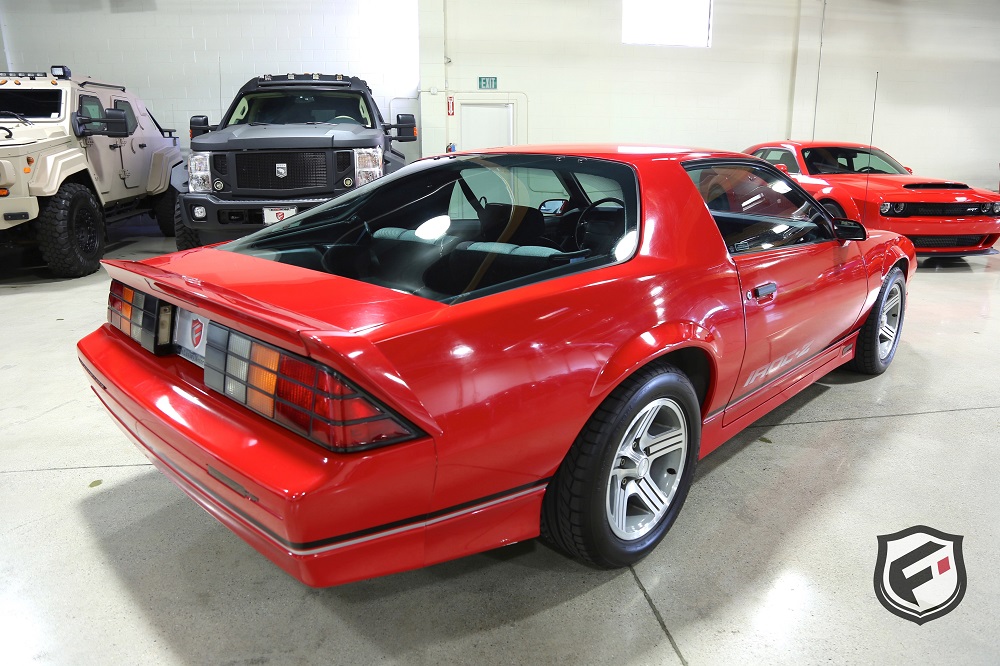
<path fill-rule="evenodd" d="M 858 341 L 855 343 L 854 358 L 848 367 L 866 375 L 880 375 L 885 372 L 896 355 L 899 336 L 903 332 L 905 313 L 906 279 L 903 277 L 903 271 L 896 267 L 890 270 L 882 281 L 882 289 L 878 293 L 875 305 L 861 326 Z"/>

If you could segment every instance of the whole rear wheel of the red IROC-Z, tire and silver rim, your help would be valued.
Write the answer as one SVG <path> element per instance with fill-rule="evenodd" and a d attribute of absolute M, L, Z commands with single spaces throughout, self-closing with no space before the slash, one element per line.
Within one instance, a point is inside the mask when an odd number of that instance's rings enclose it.
<path fill-rule="evenodd" d="M 653 428 L 660 439 L 636 448 Z M 684 505 L 700 442 L 701 410 L 690 380 L 672 366 L 640 370 L 601 403 L 563 459 L 542 503 L 542 537 L 599 567 L 638 562 Z M 658 455 L 649 455 L 657 447 Z M 650 481 L 666 500 L 659 509 L 643 495 Z M 612 515 L 616 505 L 619 517 Z"/>

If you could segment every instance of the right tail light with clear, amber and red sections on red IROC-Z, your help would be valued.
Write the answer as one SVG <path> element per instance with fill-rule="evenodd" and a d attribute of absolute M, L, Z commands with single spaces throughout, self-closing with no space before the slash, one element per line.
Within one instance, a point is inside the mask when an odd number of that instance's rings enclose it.
<path fill-rule="evenodd" d="M 421 436 L 415 426 L 337 372 L 215 323 L 205 384 L 335 451 L 360 451 Z"/>

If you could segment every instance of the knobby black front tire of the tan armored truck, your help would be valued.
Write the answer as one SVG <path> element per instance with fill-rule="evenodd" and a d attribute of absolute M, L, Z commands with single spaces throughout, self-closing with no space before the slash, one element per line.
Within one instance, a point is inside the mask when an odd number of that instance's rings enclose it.
<path fill-rule="evenodd" d="M 35 236 L 49 270 L 58 277 L 82 277 L 101 267 L 104 212 L 86 185 L 63 183 L 42 205 Z"/>

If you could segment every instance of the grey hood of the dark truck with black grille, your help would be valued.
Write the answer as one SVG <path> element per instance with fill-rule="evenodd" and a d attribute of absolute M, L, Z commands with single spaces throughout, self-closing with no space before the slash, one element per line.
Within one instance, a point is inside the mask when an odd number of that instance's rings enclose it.
<path fill-rule="evenodd" d="M 355 123 L 233 125 L 191 139 L 191 150 L 366 148 L 379 145 L 384 136 Z"/>

